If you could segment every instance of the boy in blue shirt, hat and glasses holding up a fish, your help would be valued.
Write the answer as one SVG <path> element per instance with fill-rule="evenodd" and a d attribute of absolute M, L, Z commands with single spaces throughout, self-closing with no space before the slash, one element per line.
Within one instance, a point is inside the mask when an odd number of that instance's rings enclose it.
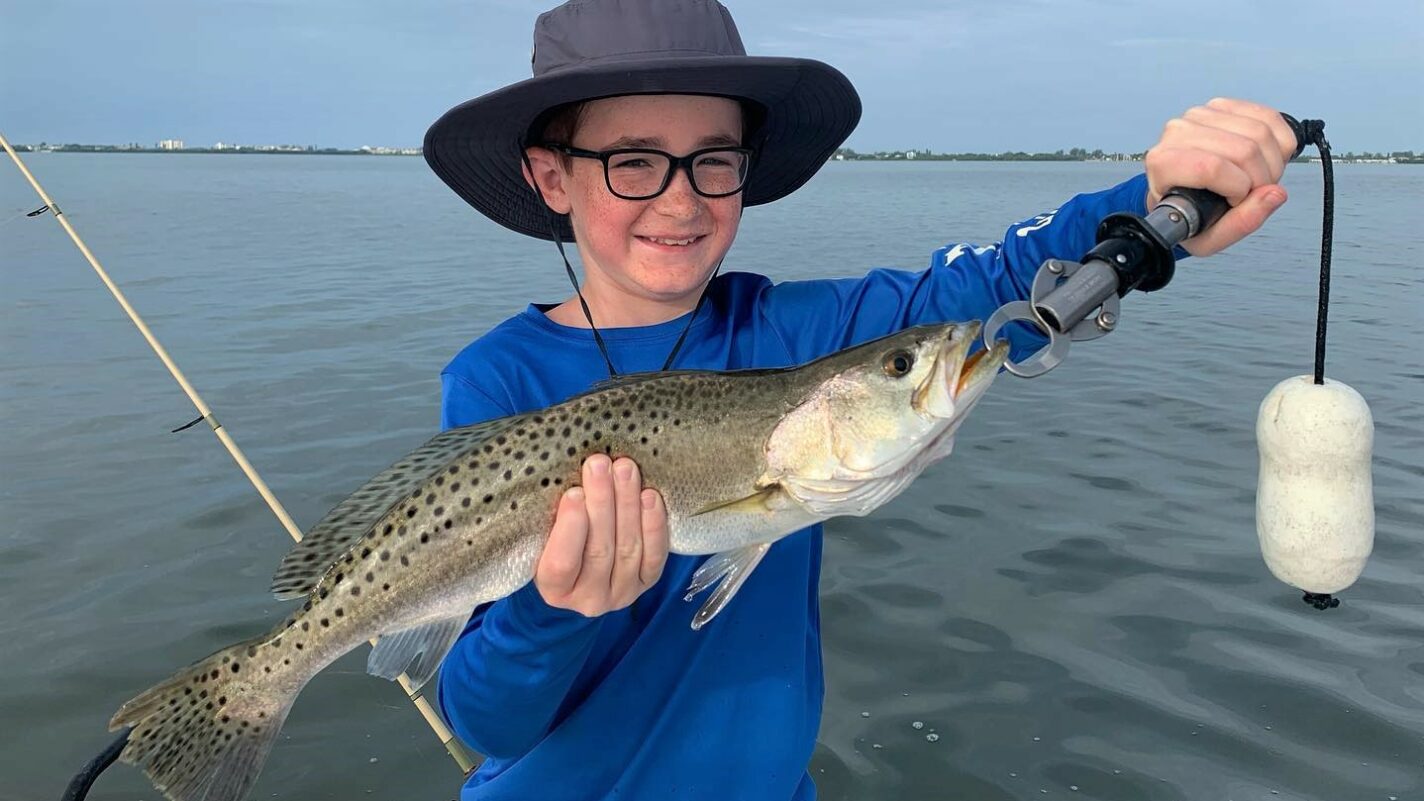
<path fill-rule="evenodd" d="M 441 373 L 444 428 L 547 406 L 609 373 L 810 361 L 1027 296 L 1049 257 L 1078 258 L 1114 211 L 1173 185 L 1233 205 L 1188 244 L 1215 252 L 1284 201 L 1294 140 L 1279 115 L 1212 101 L 1168 123 L 1146 174 L 944 248 L 923 272 L 772 284 L 718 275 L 743 207 L 783 197 L 860 115 L 826 64 L 748 57 L 713 0 L 574 0 L 534 30 L 534 76 L 460 107 L 426 137 L 434 171 L 525 235 L 575 242 L 584 286 L 530 305 Z M 570 278 L 572 268 L 567 265 Z M 1031 336 L 1018 353 L 1037 346 Z M 487 760 L 461 798 L 806 800 L 823 697 L 820 527 L 778 542 L 708 626 L 682 594 L 701 557 L 669 556 L 661 497 L 628 459 L 590 458 L 557 510 L 534 582 L 470 619 L 439 703 Z"/>

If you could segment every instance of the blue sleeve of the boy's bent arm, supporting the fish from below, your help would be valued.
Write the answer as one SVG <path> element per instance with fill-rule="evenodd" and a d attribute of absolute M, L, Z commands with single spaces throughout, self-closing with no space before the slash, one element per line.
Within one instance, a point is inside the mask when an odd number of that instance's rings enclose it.
<path fill-rule="evenodd" d="M 441 429 L 510 413 L 459 375 L 441 373 Z M 446 656 L 436 700 L 450 728 L 488 757 L 517 757 L 554 724 L 598 637 L 600 619 L 544 603 L 530 582 L 470 616 Z"/>

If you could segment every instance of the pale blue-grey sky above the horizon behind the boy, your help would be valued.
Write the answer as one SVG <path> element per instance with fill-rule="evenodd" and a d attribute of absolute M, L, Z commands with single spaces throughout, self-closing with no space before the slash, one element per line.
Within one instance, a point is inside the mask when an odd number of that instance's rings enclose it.
<path fill-rule="evenodd" d="M 7 0 L 17 143 L 420 144 L 528 76 L 551 0 Z M 1424 151 L 1424 1 L 726 0 L 748 50 L 820 58 L 857 150 L 1149 147 L 1213 95 L 1326 120 L 1337 151 Z"/>

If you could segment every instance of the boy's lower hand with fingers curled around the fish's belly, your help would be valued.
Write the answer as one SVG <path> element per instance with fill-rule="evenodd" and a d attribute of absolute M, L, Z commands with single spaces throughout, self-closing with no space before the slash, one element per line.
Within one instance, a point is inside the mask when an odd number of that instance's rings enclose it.
<path fill-rule="evenodd" d="M 544 603 L 587 617 L 624 609 L 658 582 L 668 562 L 668 510 L 642 489 L 632 459 L 595 453 L 582 486 L 564 492 L 534 586 Z"/>

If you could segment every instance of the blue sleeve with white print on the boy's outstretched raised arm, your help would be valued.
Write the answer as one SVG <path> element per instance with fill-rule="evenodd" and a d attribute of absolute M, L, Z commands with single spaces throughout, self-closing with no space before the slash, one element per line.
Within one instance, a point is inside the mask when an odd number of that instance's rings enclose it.
<path fill-rule="evenodd" d="M 1048 258 L 1078 259 L 1096 244 L 1108 214 L 1143 214 L 1146 175 L 1075 195 L 1061 207 L 1011 225 L 991 245 L 946 245 L 923 271 L 873 269 L 863 278 L 789 281 L 770 286 L 762 314 L 797 362 L 923 324 L 984 322 L 1010 302 L 1027 299 L 1038 267 Z M 1179 254 L 1182 255 L 1182 254 Z M 1048 343 L 1028 324 L 1002 332 L 1012 358 Z"/>

